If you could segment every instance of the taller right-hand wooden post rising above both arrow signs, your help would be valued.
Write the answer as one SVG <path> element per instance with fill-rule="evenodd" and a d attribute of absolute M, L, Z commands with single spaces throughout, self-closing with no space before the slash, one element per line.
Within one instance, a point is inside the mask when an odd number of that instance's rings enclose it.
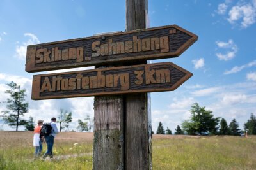
<path fill-rule="evenodd" d="M 126 0 L 127 31 L 146 28 L 147 18 L 148 0 Z M 152 169 L 150 94 L 126 95 L 124 101 L 125 169 Z"/>

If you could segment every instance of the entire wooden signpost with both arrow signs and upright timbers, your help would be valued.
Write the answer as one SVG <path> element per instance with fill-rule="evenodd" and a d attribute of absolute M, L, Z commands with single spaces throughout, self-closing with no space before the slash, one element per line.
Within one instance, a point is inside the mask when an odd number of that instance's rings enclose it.
<path fill-rule="evenodd" d="M 198 39 L 177 25 L 145 29 L 147 16 L 148 0 L 126 0 L 125 32 L 27 48 L 29 73 L 97 67 L 35 75 L 32 87 L 35 100 L 95 96 L 94 170 L 152 169 L 147 92 L 175 90 L 193 75 L 172 62 L 147 64 L 178 57 Z"/>

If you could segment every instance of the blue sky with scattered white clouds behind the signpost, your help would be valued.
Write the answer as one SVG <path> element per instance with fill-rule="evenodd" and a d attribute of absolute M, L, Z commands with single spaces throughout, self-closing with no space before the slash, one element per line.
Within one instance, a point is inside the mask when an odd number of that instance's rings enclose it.
<path fill-rule="evenodd" d="M 161 121 L 174 132 L 193 103 L 228 124 L 236 118 L 243 129 L 256 114 L 256 0 L 148 0 L 148 15 L 150 27 L 176 24 L 199 37 L 179 57 L 151 61 L 173 62 L 194 74 L 173 92 L 151 93 L 152 131 Z M 49 122 L 63 108 L 72 111 L 70 129 L 76 129 L 78 119 L 93 118 L 93 97 L 32 101 L 32 76 L 60 70 L 27 73 L 26 46 L 114 31 L 125 31 L 124 0 L 1 0 L 0 102 L 8 98 L 6 83 L 14 81 L 28 95 L 24 118 Z M 3 122 L 0 129 L 15 130 Z"/>

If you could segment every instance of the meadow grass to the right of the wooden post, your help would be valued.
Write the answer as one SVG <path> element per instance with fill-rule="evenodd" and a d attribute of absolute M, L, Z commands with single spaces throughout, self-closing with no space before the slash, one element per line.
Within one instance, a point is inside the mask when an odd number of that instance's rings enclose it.
<path fill-rule="evenodd" d="M 256 169 L 256 138 L 179 136 L 153 140 L 154 169 Z"/>

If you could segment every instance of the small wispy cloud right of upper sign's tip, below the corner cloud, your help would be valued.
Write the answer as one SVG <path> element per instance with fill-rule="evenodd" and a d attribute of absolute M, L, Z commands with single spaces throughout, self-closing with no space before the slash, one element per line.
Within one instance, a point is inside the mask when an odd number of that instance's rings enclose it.
<path fill-rule="evenodd" d="M 225 53 L 216 53 L 216 56 L 219 60 L 227 61 L 233 59 L 236 56 L 238 48 L 232 39 L 229 39 L 227 43 L 223 41 L 216 41 L 216 45 L 219 48 L 226 49 Z"/>

